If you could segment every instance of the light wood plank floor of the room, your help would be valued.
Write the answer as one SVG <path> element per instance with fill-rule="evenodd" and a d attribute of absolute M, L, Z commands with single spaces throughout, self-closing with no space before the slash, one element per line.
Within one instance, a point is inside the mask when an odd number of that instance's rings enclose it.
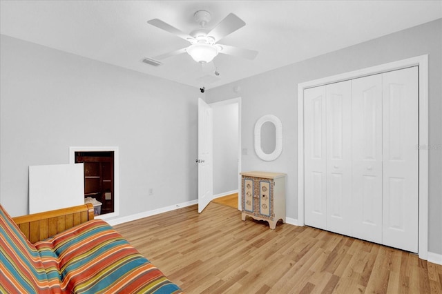
<path fill-rule="evenodd" d="M 442 266 L 210 203 L 115 226 L 186 293 L 442 293 Z"/>

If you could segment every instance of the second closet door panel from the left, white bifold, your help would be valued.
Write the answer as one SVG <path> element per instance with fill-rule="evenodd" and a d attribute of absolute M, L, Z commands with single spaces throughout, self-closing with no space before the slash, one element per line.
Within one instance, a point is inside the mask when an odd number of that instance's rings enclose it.
<path fill-rule="evenodd" d="M 352 234 L 352 81 L 327 91 L 327 230 Z"/>

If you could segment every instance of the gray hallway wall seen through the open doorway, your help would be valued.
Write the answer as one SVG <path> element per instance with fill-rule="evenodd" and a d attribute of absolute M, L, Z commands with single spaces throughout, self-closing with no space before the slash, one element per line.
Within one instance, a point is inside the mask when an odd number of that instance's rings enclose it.
<path fill-rule="evenodd" d="M 238 104 L 213 106 L 213 195 L 238 190 Z"/>

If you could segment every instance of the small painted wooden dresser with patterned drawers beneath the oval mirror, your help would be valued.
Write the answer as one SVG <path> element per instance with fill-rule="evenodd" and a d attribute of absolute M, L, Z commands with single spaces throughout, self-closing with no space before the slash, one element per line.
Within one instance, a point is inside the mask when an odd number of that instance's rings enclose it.
<path fill-rule="evenodd" d="M 285 173 L 251 171 L 240 174 L 242 220 L 245 221 L 247 215 L 265 220 L 272 230 L 278 220 L 285 222 Z"/>

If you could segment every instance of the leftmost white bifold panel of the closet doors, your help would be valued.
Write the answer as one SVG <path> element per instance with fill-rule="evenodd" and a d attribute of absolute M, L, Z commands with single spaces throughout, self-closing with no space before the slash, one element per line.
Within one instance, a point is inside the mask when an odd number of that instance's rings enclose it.
<path fill-rule="evenodd" d="M 326 229 L 325 86 L 304 91 L 305 224 Z"/>

